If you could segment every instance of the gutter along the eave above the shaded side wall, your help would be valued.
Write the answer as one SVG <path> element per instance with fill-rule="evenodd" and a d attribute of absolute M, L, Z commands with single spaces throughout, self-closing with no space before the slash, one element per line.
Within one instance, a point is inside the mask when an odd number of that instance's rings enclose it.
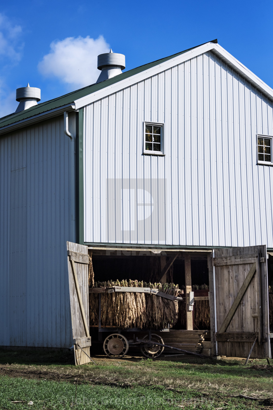
<path fill-rule="evenodd" d="M 16 123 L 6 125 L 5 127 L 0 128 L 0 135 L 7 134 L 8 132 L 14 131 L 18 128 L 26 127 L 27 125 L 32 125 L 40 121 L 46 120 L 47 118 L 57 117 L 63 112 L 71 112 L 75 109 L 75 103 L 70 103 L 63 105 L 62 107 L 51 109 L 50 111 L 42 112 L 41 114 L 34 115 L 24 120 L 17 121 Z"/>

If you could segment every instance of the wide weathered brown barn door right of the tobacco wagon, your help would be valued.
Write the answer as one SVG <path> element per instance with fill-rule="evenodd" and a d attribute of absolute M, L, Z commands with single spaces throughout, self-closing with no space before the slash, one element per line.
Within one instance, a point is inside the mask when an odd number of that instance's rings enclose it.
<path fill-rule="evenodd" d="M 215 249 L 208 257 L 216 355 L 270 358 L 266 246 Z"/>

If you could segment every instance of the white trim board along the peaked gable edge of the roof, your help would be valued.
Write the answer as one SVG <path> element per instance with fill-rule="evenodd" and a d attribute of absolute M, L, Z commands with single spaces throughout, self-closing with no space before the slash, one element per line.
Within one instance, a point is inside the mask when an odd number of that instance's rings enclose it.
<path fill-rule="evenodd" d="M 148 68 L 141 73 L 132 75 L 120 82 L 112 84 L 108 87 L 105 87 L 99 91 L 95 91 L 94 93 L 89 94 L 88 96 L 84 96 L 75 100 L 75 108 L 79 109 L 84 107 L 85 105 L 91 104 L 94 101 L 97 101 L 101 98 L 109 96 L 121 89 L 126 87 L 130 87 L 137 82 L 145 80 L 146 78 L 152 77 L 162 71 L 165 71 L 177 64 L 181 64 L 189 59 L 197 57 L 205 52 L 212 51 L 217 57 L 223 60 L 226 64 L 228 64 L 231 68 L 233 68 L 237 73 L 239 73 L 242 77 L 244 77 L 250 84 L 256 87 L 259 91 L 261 91 L 266 97 L 268 97 L 271 101 L 273 101 L 273 89 L 270 88 L 265 82 L 263 82 L 257 75 L 252 73 L 248 68 L 246 68 L 243 64 L 241 64 L 235 57 L 233 57 L 230 53 L 228 53 L 223 47 L 219 46 L 216 43 L 205 43 L 203 46 L 199 46 L 194 48 L 193 50 L 187 51 L 183 54 L 178 55 L 172 59 L 169 59 L 163 63 L 158 64 L 157 66 Z"/>

